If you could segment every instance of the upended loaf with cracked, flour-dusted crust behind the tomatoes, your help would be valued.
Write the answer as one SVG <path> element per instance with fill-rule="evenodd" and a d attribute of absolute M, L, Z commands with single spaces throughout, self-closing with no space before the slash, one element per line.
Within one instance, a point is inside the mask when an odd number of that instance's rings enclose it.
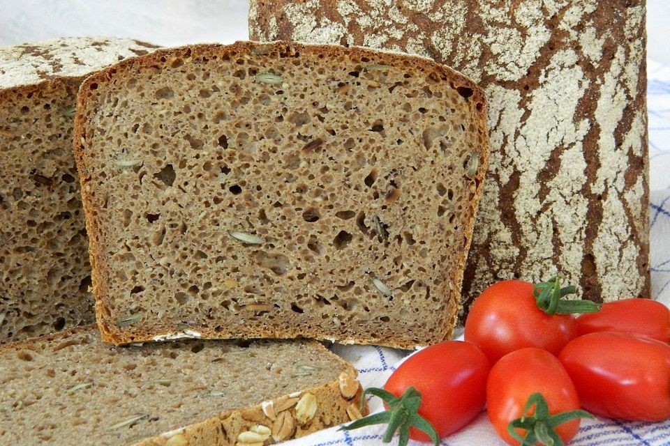
<path fill-rule="evenodd" d="M 463 281 L 563 272 L 649 297 L 645 1 L 251 0 L 254 40 L 430 56 L 489 100 L 491 166 Z"/>

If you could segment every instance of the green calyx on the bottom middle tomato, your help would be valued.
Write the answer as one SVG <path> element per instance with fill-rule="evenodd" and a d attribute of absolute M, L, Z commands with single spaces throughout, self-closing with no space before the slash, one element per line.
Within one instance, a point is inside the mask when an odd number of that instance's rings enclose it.
<path fill-rule="evenodd" d="M 533 406 L 535 406 L 533 415 L 523 415 L 523 417 L 512 420 L 507 424 L 507 432 L 521 442 L 519 446 L 535 446 L 538 443 L 545 446 L 565 446 L 563 440 L 556 433 L 556 427 L 576 418 L 594 418 L 586 410 L 570 410 L 569 412 L 549 415 L 549 406 L 546 399 L 539 393 L 530 395 L 526 407 L 523 408 L 523 413 L 528 413 Z M 526 429 L 526 436 L 521 437 L 516 429 Z"/>

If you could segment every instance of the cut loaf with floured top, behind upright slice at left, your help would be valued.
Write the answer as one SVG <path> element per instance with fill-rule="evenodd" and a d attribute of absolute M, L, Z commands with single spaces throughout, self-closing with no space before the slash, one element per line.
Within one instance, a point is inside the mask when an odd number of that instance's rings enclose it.
<path fill-rule="evenodd" d="M 153 48 L 121 38 L 0 48 L 0 342 L 95 320 L 71 151 L 77 89 Z"/>

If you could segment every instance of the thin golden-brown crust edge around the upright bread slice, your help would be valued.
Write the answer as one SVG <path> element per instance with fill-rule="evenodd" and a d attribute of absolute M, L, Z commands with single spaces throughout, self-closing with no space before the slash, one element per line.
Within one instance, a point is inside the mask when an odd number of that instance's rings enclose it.
<path fill-rule="evenodd" d="M 114 66 L 110 66 L 105 70 L 96 72 L 95 75 L 87 78 L 80 88 L 80 94 L 77 98 L 77 116 L 75 117 L 75 133 L 74 133 L 74 145 L 73 151 L 75 153 L 75 158 L 77 160 L 77 168 L 80 172 L 80 181 L 82 185 L 82 198 L 84 203 L 84 211 L 86 213 L 87 220 L 87 231 L 89 233 L 90 240 L 90 256 L 91 256 L 91 268 L 93 268 L 92 282 L 93 282 L 93 291 L 96 297 L 96 316 L 98 319 L 98 325 L 103 335 L 103 340 L 111 342 L 113 344 L 128 344 L 131 342 L 138 341 L 151 341 L 156 336 L 164 335 L 165 330 L 152 330 L 151 328 L 134 328 L 128 330 L 120 330 L 112 321 L 110 313 L 107 312 L 107 305 L 109 304 L 109 298 L 107 296 L 107 284 L 106 280 L 109 277 L 109 266 L 105 263 L 105 259 L 101 256 L 101 247 L 98 243 L 101 240 L 101 227 L 98 219 L 96 217 L 94 201 L 91 198 L 91 189 L 87 185 L 89 181 L 88 176 L 88 163 L 89 159 L 87 157 L 87 152 L 85 148 L 84 134 L 86 130 L 86 121 L 85 116 L 87 113 L 95 107 L 94 100 L 88 100 L 87 92 L 91 90 L 91 85 L 93 84 L 105 84 L 111 82 L 112 79 L 122 76 L 126 73 L 135 72 L 141 68 L 150 68 L 152 66 L 161 66 L 165 63 L 166 59 L 170 57 L 179 56 L 182 58 L 195 57 L 195 56 L 206 56 L 208 54 L 217 54 L 219 56 L 225 56 L 230 54 L 248 54 L 252 49 L 262 46 L 264 48 L 270 47 L 271 51 L 287 52 L 289 54 L 300 53 L 308 55 L 319 55 L 319 54 L 330 54 L 336 56 L 338 54 L 350 54 L 352 56 L 375 56 L 375 59 L 383 61 L 389 66 L 394 66 L 395 64 L 400 64 L 405 61 L 412 61 L 415 68 L 423 72 L 425 76 L 433 75 L 442 79 L 442 81 L 450 82 L 454 89 L 459 87 L 464 87 L 472 91 L 471 100 L 469 100 L 470 109 L 472 116 L 477 116 L 477 129 L 479 132 L 479 141 L 481 146 L 479 147 L 480 163 L 477 173 L 475 174 L 475 186 L 473 186 L 472 194 L 473 199 L 471 203 L 472 207 L 472 217 L 470 221 L 464 227 L 464 233 L 466 235 L 466 246 L 463 247 L 461 258 L 459 259 L 458 265 L 456 268 L 453 268 L 452 273 L 452 283 L 454 284 L 452 295 L 447 297 L 447 314 L 438 315 L 437 317 L 445 318 L 445 330 L 444 332 L 435 333 L 433 342 L 442 341 L 452 337 L 453 329 L 456 324 L 456 316 L 460 309 L 460 293 L 459 289 L 461 287 L 461 282 L 463 279 L 463 268 L 465 266 L 468 247 L 470 241 L 472 240 L 472 229 L 474 226 L 475 213 L 477 210 L 477 205 L 479 203 L 479 197 L 482 192 L 482 185 L 484 183 L 484 175 L 486 174 L 486 168 L 489 163 L 489 140 L 488 140 L 488 130 L 486 128 L 486 99 L 484 98 L 484 93 L 482 89 L 477 86 L 472 80 L 468 79 L 465 75 L 462 75 L 451 68 L 442 66 L 438 63 L 431 61 L 430 59 L 422 58 L 419 56 L 408 56 L 401 53 L 392 53 L 392 52 L 380 52 L 373 49 L 366 49 L 363 47 L 339 47 L 335 45 L 304 45 L 299 43 L 285 43 L 285 42 L 276 42 L 269 44 L 258 44 L 251 42 L 237 42 L 232 45 L 191 45 L 187 47 L 180 47 L 174 49 L 159 49 L 158 51 L 151 53 L 147 56 L 140 56 L 131 59 L 126 59 L 121 61 Z M 176 326 L 172 332 L 179 332 Z M 202 338 L 226 338 L 226 337 L 239 337 L 240 333 L 214 330 L 214 328 L 199 328 L 198 332 L 201 334 Z M 318 332 L 318 328 L 315 328 L 314 332 L 304 333 L 296 330 L 295 328 L 283 328 L 283 330 L 274 330 L 273 332 L 258 332 L 251 334 L 244 334 L 244 336 L 250 337 L 276 337 L 276 338 L 297 338 L 297 337 L 315 337 L 320 338 L 323 335 Z M 415 348 L 415 344 L 408 342 L 402 334 L 396 339 L 387 339 L 387 341 L 381 342 L 379 340 L 373 339 L 336 339 L 345 343 L 357 343 L 357 344 L 382 344 L 398 348 Z"/>

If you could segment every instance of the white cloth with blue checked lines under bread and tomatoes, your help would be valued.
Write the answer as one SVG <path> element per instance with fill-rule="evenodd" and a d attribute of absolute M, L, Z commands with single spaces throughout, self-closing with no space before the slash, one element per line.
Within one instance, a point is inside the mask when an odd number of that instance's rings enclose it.
<path fill-rule="evenodd" d="M 652 297 L 670 305 L 670 67 L 648 63 L 650 240 Z M 382 387 L 406 351 L 376 346 L 340 346 L 334 353 L 352 362 L 364 387 Z M 371 411 L 382 410 L 380 401 L 370 400 Z M 289 446 L 380 445 L 382 426 L 357 431 L 327 429 L 284 443 Z M 396 441 L 396 440 L 394 440 Z M 442 439 L 444 446 L 504 446 L 482 413 L 472 424 Z M 410 445 L 426 445 L 410 441 Z M 670 422 L 618 422 L 606 418 L 582 420 L 581 429 L 569 446 L 662 446 L 670 445 Z"/>

